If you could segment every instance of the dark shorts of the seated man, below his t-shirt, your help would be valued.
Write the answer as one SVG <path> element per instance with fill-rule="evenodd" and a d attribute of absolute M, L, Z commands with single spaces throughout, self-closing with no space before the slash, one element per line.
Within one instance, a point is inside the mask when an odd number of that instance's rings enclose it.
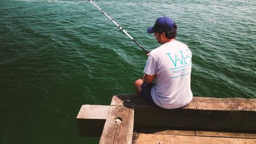
<path fill-rule="evenodd" d="M 151 89 L 154 85 L 155 83 L 143 83 L 141 85 L 141 96 L 143 99 L 146 99 L 148 103 L 156 105 L 151 95 Z"/>

